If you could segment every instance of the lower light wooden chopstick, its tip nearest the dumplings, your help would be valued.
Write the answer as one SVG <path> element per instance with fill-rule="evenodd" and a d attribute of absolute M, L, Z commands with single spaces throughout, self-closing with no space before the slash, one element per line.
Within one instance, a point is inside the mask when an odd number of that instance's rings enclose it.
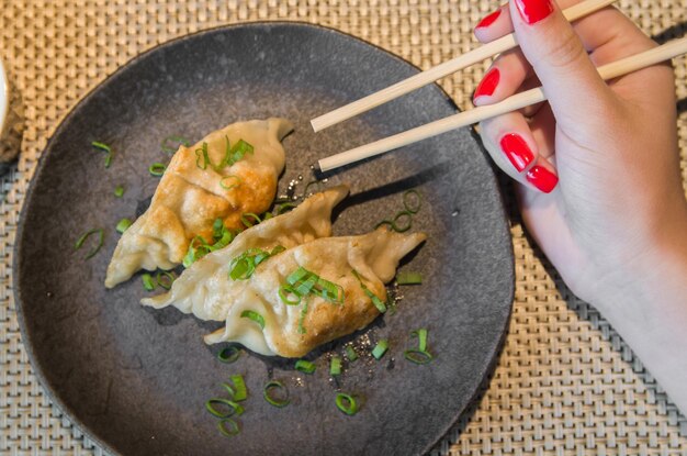
<path fill-rule="evenodd" d="M 683 54 L 687 54 L 687 37 L 674 40 L 662 46 L 654 47 L 653 49 L 604 65 L 598 68 L 598 71 L 604 80 L 608 80 L 661 62 L 669 60 L 671 58 Z M 471 125 L 473 123 L 516 111 L 545 100 L 547 96 L 544 94 L 544 91 L 541 87 L 538 87 L 536 89 L 517 93 L 495 104 L 473 108 L 471 110 L 430 122 L 423 126 L 388 136 L 374 143 L 323 158 L 318 162 L 318 165 L 322 171 L 328 171 L 330 169 L 349 165 L 374 155 L 383 154 L 384 152 L 418 142 L 427 137 L 446 133 L 450 130 Z"/>

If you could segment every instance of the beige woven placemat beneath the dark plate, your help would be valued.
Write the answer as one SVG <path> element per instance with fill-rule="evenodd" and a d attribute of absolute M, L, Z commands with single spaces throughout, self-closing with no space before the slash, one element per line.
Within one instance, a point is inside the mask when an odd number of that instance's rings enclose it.
<path fill-rule="evenodd" d="M 102 454 L 52 407 L 22 346 L 12 296 L 16 222 L 36 162 L 64 115 L 119 66 L 216 25 L 315 22 L 428 68 L 474 46 L 493 0 L 23 0 L 0 2 L 0 55 L 23 96 L 22 154 L 0 178 L 0 454 Z M 685 0 L 619 2 L 657 40 L 687 30 Z M 687 188 L 687 59 L 675 60 Z M 441 84 L 470 105 L 487 63 Z M 508 188 L 508 186 L 505 186 Z M 513 208 L 513 204 L 510 204 Z M 687 455 L 687 420 L 599 314 L 548 273 L 510 209 L 516 297 L 491 385 L 436 454 Z M 550 270 L 550 269 L 549 269 Z"/>

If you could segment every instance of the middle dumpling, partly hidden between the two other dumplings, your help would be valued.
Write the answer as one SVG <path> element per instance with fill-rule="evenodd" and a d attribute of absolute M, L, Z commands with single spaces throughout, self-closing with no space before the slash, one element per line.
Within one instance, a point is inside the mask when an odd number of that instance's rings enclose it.
<path fill-rule="evenodd" d="M 140 301 L 157 309 L 174 305 L 201 320 L 224 321 L 230 299 L 223 292 L 229 279 L 229 264 L 241 253 L 260 248 L 272 251 L 278 245 L 291 248 L 318 237 L 331 235 L 331 210 L 348 194 L 348 187 L 338 186 L 315 193 L 291 212 L 266 220 L 243 233 L 228 246 L 205 255 L 185 269 L 169 292 Z M 237 286 L 247 285 L 239 280 Z"/>

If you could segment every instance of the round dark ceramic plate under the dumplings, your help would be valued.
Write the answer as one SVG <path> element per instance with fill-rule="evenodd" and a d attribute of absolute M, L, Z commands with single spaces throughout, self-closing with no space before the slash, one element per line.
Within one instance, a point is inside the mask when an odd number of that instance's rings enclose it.
<path fill-rule="evenodd" d="M 153 194 L 147 168 L 165 162 L 170 134 L 198 140 L 239 119 L 281 115 L 295 132 L 284 141 L 292 179 L 313 178 L 317 158 L 455 112 L 438 87 L 418 90 L 323 133 L 308 120 L 417 71 L 388 53 L 336 31 L 295 23 L 212 30 L 159 46 L 121 68 L 65 119 L 45 151 L 24 207 L 15 256 L 15 292 L 24 343 L 55 403 L 91 438 L 126 455 L 404 455 L 431 448 L 474 398 L 504 338 L 514 290 L 510 236 L 496 179 L 470 130 L 424 141 L 328 176 L 346 181 L 335 233 L 371 230 L 417 188 L 424 203 L 414 230 L 428 241 L 402 269 L 425 282 L 403 287 L 397 312 L 308 356 L 313 375 L 292 362 L 245 353 L 233 365 L 215 358 L 201 336 L 213 325 L 176 309 L 154 311 L 138 300 L 140 278 L 105 290 L 117 242 L 114 225 L 133 218 Z M 115 151 L 110 169 L 90 147 Z M 115 198 L 115 186 L 126 193 Z M 85 260 L 79 235 L 105 227 L 101 252 Z M 429 329 L 436 359 L 408 363 L 410 332 Z M 328 376 L 345 343 L 391 349 Z M 368 346 L 365 348 L 365 346 Z M 241 432 L 227 440 L 204 409 L 221 381 L 244 374 L 250 397 Z M 262 399 L 269 378 L 289 386 L 293 402 Z M 335 407 L 337 388 L 357 394 L 360 412 Z"/>

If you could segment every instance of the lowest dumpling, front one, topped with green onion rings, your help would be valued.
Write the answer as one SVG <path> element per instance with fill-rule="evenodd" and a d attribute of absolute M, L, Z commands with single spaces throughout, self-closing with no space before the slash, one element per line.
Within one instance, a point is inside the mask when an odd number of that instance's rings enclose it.
<path fill-rule="evenodd" d="M 325 237 L 286 249 L 260 264 L 247 280 L 213 276 L 211 283 L 203 283 L 206 297 L 228 301 L 228 312 L 226 326 L 205 336 L 205 343 L 238 342 L 262 355 L 300 357 L 361 330 L 380 314 L 371 294 L 386 301 L 384 283 L 396 274 L 401 258 L 425 238 L 424 233 L 381 227 L 361 236 Z M 320 292 L 303 296 L 296 305 L 286 304 L 280 290 L 286 300 L 296 301 L 283 286 L 297 270 L 311 273 L 318 283 L 324 279 L 334 285 L 342 302 L 324 299 Z"/>

